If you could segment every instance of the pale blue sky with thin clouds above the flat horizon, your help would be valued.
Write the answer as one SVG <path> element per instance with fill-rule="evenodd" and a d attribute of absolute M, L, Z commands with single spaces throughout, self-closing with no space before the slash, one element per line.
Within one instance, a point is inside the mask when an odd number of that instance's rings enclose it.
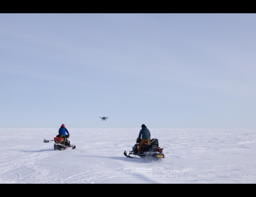
<path fill-rule="evenodd" d="M 255 128 L 255 62 L 256 14 L 0 14 L 0 128 Z"/>

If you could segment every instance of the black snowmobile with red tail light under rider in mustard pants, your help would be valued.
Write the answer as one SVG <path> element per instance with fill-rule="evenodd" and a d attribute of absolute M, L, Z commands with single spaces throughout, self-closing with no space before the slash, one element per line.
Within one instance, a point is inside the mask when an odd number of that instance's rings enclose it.
<path fill-rule="evenodd" d="M 133 158 L 130 155 L 138 155 L 140 157 L 150 156 L 155 159 L 165 158 L 165 155 L 163 154 L 163 149 L 160 148 L 158 145 L 157 138 L 150 140 L 149 144 L 144 143 L 142 145 L 141 154 L 138 154 L 140 141 L 140 138 L 136 139 L 136 144 L 132 147 L 132 151 L 130 151 L 128 155 L 126 151 L 124 151 L 124 155 L 129 158 Z"/>

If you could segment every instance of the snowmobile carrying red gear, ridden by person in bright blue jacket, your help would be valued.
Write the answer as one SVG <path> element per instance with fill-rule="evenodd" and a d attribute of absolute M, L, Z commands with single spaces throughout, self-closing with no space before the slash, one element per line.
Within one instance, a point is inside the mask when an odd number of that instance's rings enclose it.
<path fill-rule="evenodd" d="M 66 148 L 72 147 L 75 149 L 75 145 L 70 144 L 69 138 L 70 136 L 64 137 L 64 135 L 57 135 L 54 137 L 54 140 L 46 140 L 44 139 L 44 143 L 55 142 L 54 143 L 54 150 L 65 150 Z"/>

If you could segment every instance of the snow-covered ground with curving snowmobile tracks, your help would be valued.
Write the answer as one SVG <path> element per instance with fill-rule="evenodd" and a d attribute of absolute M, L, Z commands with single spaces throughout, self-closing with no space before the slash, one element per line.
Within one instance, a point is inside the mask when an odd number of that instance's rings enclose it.
<path fill-rule="evenodd" d="M 0 183 L 256 183 L 255 129 L 150 129 L 165 158 L 130 159 L 138 129 L 0 129 Z"/>

